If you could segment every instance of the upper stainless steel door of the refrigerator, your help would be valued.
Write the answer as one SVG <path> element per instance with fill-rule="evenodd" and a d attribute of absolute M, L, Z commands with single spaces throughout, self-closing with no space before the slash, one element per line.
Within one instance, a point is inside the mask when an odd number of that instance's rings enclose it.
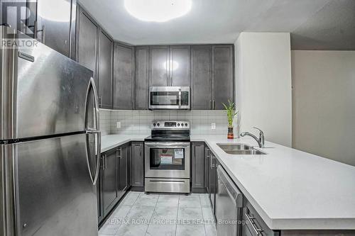
<path fill-rule="evenodd" d="M 2 36 L 9 37 L 1 29 Z M 13 67 L 1 78 L 1 140 L 72 133 L 90 126 L 86 109 L 95 108 L 97 100 L 91 70 L 38 42 L 32 47 L 3 47 L 1 54 L 1 68 Z"/>

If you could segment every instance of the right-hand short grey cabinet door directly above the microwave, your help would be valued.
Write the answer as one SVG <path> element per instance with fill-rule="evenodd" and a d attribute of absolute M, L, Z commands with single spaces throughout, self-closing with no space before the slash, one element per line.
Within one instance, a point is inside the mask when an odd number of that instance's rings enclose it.
<path fill-rule="evenodd" d="M 170 46 L 170 86 L 190 86 L 190 46 Z"/>

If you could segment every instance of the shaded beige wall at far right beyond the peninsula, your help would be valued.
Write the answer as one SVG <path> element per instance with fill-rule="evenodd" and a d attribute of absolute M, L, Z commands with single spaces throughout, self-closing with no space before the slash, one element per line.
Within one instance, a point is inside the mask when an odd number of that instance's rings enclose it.
<path fill-rule="evenodd" d="M 355 166 L 355 51 L 292 51 L 293 147 Z"/>

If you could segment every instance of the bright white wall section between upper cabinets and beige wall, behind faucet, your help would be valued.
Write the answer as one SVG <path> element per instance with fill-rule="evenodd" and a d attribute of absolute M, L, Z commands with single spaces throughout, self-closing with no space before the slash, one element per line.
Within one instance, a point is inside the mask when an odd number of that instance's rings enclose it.
<path fill-rule="evenodd" d="M 290 33 L 241 33 L 236 50 L 236 104 L 241 131 L 261 128 L 266 140 L 290 147 Z M 256 133 L 256 131 L 253 131 Z"/>

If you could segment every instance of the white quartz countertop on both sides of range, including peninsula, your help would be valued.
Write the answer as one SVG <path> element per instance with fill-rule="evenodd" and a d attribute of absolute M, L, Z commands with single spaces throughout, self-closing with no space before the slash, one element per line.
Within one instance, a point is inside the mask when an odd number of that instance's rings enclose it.
<path fill-rule="evenodd" d="M 146 136 L 103 136 L 102 152 Z M 256 145 L 249 137 L 192 135 L 191 141 L 207 143 L 271 229 L 355 230 L 355 167 L 272 142 L 260 149 L 265 155 L 226 154 L 217 145 Z"/>

